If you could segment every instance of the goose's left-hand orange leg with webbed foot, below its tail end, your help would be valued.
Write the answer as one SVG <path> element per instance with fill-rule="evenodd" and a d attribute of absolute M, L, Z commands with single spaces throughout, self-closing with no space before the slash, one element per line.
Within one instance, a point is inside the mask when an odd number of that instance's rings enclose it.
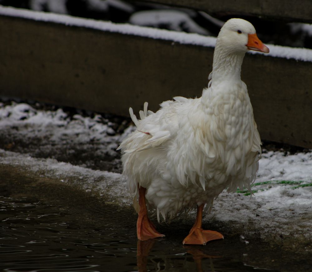
<path fill-rule="evenodd" d="M 139 217 L 137 221 L 138 239 L 145 241 L 152 238 L 164 237 L 163 234 L 156 231 L 154 224 L 149 220 L 145 203 L 146 188 L 139 186 Z"/>

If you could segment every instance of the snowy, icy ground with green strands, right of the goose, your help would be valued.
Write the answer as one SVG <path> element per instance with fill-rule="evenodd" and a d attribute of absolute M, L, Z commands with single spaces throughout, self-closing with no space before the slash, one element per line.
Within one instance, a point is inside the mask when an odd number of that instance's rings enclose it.
<path fill-rule="evenodd" d="M 205 219 L 243 224 L 245 235 L 258 234 L 284 244 L 285 237 L 303 243 L 312 239 L 312 151 L 263 153 L 251 188 L 252 196 L 247 190 L 221 193 Z"/>

